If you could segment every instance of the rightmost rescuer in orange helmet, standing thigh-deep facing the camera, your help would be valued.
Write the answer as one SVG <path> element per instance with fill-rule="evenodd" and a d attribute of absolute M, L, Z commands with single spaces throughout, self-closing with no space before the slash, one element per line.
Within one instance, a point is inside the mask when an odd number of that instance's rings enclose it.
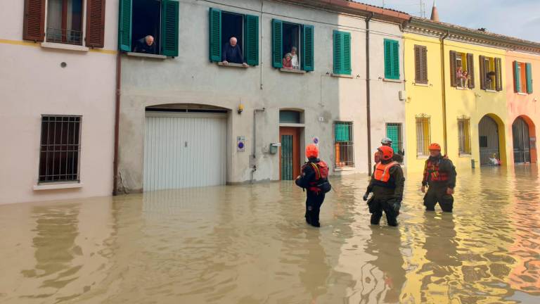
<path fill-rule="evenodd" d="M 454 208 L 454 187 L 456 186 L 456 167 L 449 158 L 442 156 L 439 144 L 430 144 L 430 158 L 425 160 L 422 193 L 428 186 L 424 196 L 426 211 L 435 211 L 437 202 L 444 212 L 452 212 Z"/>

